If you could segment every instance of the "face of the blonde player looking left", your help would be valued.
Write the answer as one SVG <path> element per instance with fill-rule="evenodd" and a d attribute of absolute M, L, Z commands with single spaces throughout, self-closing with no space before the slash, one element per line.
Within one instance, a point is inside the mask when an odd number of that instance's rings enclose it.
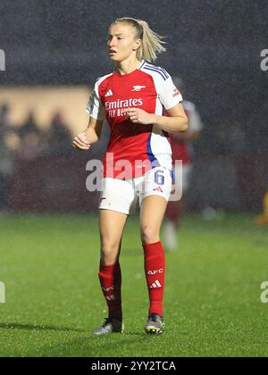
<path fill-rule="evenodd" d="M 135 29 L 125 23 L 116 23 L 109 30 L 108 50 L 114 63 L 127 60 L 131 54 L 136 54 L 141 40 L 135 36 Z"/>

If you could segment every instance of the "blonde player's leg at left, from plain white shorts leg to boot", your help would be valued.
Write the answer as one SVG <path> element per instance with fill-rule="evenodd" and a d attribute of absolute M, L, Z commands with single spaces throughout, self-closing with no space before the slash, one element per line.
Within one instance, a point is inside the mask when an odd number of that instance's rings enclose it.
<path fill-rule="evenodd" d="M 121 311 L 121 237 L 134 198 L 132 185 L 119 179 L 106 179 L 100 203 L 101 259 L 100 285 L 108 307 L 108 318 L 96 335 L 123 331 Z"/>

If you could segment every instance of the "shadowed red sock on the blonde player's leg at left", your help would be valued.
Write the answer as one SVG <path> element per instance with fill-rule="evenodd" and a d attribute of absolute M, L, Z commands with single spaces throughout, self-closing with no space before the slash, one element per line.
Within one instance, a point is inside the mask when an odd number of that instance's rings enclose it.
<path fill-rule="evenodd" d="M 98 277 L 108 306 L 108 317 L 120 320 L 122 317 L 120 263 L 106 266 L 100 262 Z"/>

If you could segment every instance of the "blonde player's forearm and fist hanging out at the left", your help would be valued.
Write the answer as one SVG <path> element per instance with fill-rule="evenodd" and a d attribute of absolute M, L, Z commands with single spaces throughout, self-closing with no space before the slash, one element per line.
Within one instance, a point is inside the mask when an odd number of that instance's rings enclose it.
<path fill-rule="evenodd" d="M 96 120 L 90 117 L 88 128 L 73 138 L 72 146 L 79 150 L 88 150 L 101 137 L 103 125 L 103 120 Z"/>

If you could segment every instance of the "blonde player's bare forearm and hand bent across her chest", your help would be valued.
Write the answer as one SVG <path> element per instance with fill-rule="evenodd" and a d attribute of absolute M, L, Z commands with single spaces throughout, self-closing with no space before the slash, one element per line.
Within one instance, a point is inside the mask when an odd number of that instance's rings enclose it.
<path fill-rule="evenodd" d="M 169 116 L 148 113 L 140 108 L 125 109 L 130 121 L 134 123 L 144 125 L 155 124 L 159 128 L 169 132 L 186 131 L 188 129 L 188 117 L 181 104 L 176 104 L 166 111 Z"/>

